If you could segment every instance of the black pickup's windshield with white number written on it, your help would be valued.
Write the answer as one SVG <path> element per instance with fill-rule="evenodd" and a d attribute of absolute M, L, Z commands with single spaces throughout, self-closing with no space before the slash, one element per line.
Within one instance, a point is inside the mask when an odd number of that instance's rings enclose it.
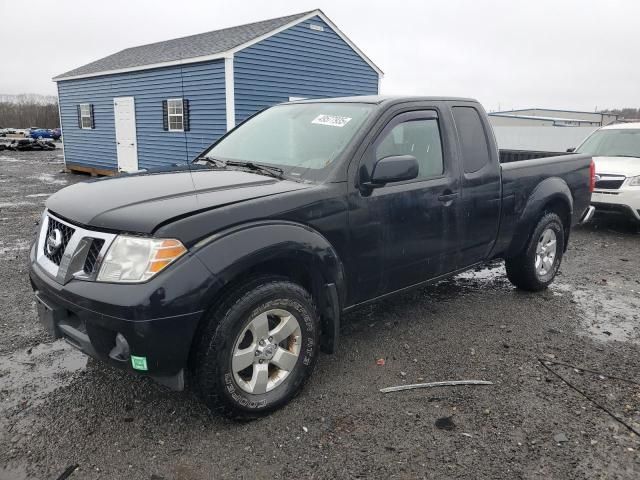
<path fill-rule="evenodd" d="M 363 103 L 278 105 L 249 119 L 204 156 L 274 165 L 286 175 L 318 180 L 373 108 Z"/>

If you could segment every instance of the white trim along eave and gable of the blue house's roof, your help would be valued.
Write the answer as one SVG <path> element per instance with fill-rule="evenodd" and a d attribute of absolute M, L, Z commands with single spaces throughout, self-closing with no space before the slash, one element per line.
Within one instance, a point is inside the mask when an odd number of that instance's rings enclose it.
<path fill-rule="evenodd" d="M 371 59 L 369 57 L 367 57 L 362 50 L 360 50 L 358 47 L 356 47 L 356 45 L 349 40 L 349 38 L 340 31 L 340 29 L 338 29 L 338 27 L 336 27 L 336 25 L 329 20 L 329 18 L 322 12 L 322 10 L 318 9 L 318 10 L 314 10 L 312 12 L 309 12 L 307 15 L 305 15 L 304 17 L 300 17 L 296 20 L 293 20 L 281 27 L 276 28 L 275 30 L 272 30 L 268 33 L 265 33 L 264 35 L 261 35 L 259 37 L 256 37 L 252 40 L 249 40 L 246 43 L 243 43 L 241 45 L 238 45 L 237 47 L 234 47 L 230 50 L 227 50 L 225 52 L 220 52 L 220 53 L 215 53 L 212 55 L 202 55 L 200 57 L 191 57 L 191 58 L 184 58 L 184 59 L 180 59 L 180 60 L 172 60 L 169 62 L 160 62 L 160 63 L 150 63 L 148 65 L 138 65 L 135 67 L 127 67 L 127 68 L 118 68 L 118 69 L 114 69 L 114 70 L 104 70 L 102 72 L 94 72 L 94 73 L 85 73 L 85 74 L 81 74 L 81 75 L 70 75 L 70 76 L 57 76 L 57 77 L 53 77 L 52 80 L 54 82 L 60 82 L 63 80 L 76 80 L 76 79 L 80 79 L 80 78 L 90 78 L 90 77 L 101 77 L 103 75 L 114 75 L 116 73 L 127 73 L 127 72 L 138 72 L 141 70 L 151 70 L 153 68 L 162 68 L 162 67 L 172 67 L 172 66 L 176 66 L 176 65 L 185 65 L 185 64 L 189 64 L 189 63 L 199 63 L 199 62 L 207 62 L 210 60 L 218 60 L 221 58 L 228 58 L 230 55 L 233 56 L 234 53 L 239 52 L 240 50 L 244 50 L 245 48 L 250 47 L 251 45 L 254 45 L 258 42 L 261 42 L 262 40 L 265 40 L 269 37 L 272 37 L 273 35 L 276 35 L 280 32 L 283 32 L 284 30 L 287 30 L 288 28 L 291 28 L 295 25 L 298 25 L 299 23 L 305 22 L 307 20 L 309 20 L 310 18 L 313 17 L 320 17 L 327 25 L 329 25 L 329 27 L 331 27 L 331 29 L 342 39 L 344 40 L 360 57 L 362 57 L 362 59 L 367 62 L 369 64 L 369 66 L 371 68 L 373 68 L 376 73 L 378 74 L 378 76 L 382 77 L 384 75 L 384 72 L 382 70 L 380 70 L 380 68 L 371 61 Z"/>

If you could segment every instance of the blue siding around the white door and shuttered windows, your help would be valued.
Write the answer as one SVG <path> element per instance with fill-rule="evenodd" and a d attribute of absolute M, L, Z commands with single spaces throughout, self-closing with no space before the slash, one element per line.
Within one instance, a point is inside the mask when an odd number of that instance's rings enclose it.
<path fill-rule="evenodd" d="M 226 131 L 224 61 L 58 82 L 65 162 L 116 169 L 113 99 L 134 97 L 139 168 L 192 160 Z M 190 131 L 162 128 L 162 101 L 189 100 Z M 94 106 L 95 129 L 78 127 L 77 105 Z"/>

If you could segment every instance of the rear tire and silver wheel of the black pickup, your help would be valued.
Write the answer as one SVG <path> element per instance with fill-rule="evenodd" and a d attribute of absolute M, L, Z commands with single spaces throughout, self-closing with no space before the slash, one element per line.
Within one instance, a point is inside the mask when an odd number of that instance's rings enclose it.
<path fill-rule="evenodd" d="M 551 243 L 554 242 L 551 248 Z M 530 292 L 547 288 L 554 280 L 564 252 L 564 227 L 560 217 L 545 213 L 538 221 L 522 252 L 505 261 L 507 278 L 516 287 Z"/>

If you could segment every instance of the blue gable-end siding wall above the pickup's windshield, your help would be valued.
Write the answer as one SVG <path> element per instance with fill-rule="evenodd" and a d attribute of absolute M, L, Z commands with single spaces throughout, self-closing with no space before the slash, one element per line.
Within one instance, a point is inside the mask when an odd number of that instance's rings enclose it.
<path fill-rule="evenodd" d="M 289 97 L 375 95 L 378 73 L 320 17 L 313 17 L 236 53 L 234 84 L 238 124 Z"/>

